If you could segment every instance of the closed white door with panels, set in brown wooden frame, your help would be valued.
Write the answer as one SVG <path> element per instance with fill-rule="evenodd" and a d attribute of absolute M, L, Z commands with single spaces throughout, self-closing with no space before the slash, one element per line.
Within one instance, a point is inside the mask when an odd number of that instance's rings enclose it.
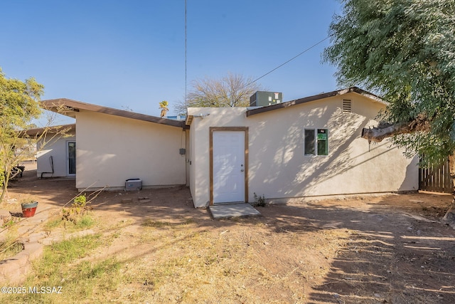
<path fill-rule="evenodd" d="M 245 201 L 245 132 L 213 132 L 213 204 Z"/>

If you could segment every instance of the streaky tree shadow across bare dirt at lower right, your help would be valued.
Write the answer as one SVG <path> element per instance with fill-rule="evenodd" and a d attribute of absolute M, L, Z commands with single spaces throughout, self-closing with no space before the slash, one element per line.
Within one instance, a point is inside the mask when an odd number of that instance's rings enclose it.
<path fill-rule="evenodd" d="M 455 231 L 384 205 L 387 199 L 261 210 L 275 218 L 276 232 L 350 231 L 323 282 L 311 285 L 308 303 L 455 303 Z"/>

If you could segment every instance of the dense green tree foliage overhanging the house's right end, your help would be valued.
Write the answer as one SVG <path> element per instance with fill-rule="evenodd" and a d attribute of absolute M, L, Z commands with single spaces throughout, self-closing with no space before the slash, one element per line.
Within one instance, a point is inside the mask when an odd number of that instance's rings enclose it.
<path fill-rule="evenodd" d="M 455 150 L 455 0 L 342 0 L 324 61 L 343 86 L 390 104 L 381 119 L 405 125 L 395 143 L 441 159 Z"/>

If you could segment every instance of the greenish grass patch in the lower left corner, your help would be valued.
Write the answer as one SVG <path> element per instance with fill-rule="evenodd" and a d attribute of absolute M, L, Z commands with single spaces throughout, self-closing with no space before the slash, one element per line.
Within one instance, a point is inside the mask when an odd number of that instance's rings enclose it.
<path fill-rule="evenodd" d="M 61 293 L 10 294 L 4 299 L 8 303 L 62 303 L 63 297 L 70 303 L 80 299 L 102 302 L 106 291 L 117 288 L 120 265 L 114 258 L 97 263 L 81 259 L 103 243 L 100 234 L 96 234 L 46 246 L 43 258 L 33 263 L 33 274 L 22 285 L 37 286 L 38 290 L 41 287 L 57 288 Z"/>

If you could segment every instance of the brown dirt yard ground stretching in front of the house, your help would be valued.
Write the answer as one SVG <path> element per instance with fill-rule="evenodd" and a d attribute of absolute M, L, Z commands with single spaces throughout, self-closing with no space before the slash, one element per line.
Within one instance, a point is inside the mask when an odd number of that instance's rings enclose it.
<path fill-rule="evenodd" d="M 61 209 L 75 181 L 37 179 L 33 164 L 3 208 L 33 196 Z M 451 196 L 351 196 L 257 207 L 214 220 L 186 187 L 102 192 L 95 230 L 115 235 L 90 261 L 122 263 L 120 303 L 455 303 Z M 17 210 L 20 211 L 20 210 Z M 89 302 L 87 302 L 89 303 Z"/>

